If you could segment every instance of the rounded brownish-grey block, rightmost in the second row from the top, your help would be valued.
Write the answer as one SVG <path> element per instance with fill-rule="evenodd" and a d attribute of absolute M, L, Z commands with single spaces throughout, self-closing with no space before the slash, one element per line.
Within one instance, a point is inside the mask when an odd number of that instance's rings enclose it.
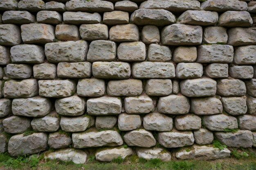
<path fill-rule="evenodd" d="M 251 27 L 252 17 L 247 11 L 226 11 L 219 17 L 222 27 Z"/>

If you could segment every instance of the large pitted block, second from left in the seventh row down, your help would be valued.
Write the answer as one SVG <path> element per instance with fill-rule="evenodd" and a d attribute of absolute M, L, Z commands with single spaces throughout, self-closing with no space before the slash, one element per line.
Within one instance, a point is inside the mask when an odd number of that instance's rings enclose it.
<path fill-rule="evenodd" d="M 40 96 L 16 98 L 12 101 L 12 112 L 16 116 L 42 117 L 49 114 L 51 109 L 50 99 Z"/>

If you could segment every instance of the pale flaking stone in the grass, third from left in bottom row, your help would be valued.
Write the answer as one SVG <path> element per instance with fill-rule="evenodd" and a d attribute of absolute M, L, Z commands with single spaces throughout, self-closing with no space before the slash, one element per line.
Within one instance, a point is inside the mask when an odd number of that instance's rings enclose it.
<path fill-rule="evenodd" d="M 171 153 L 164 148 L 136 148 L 136 153 L 139 158 L 146 160 L 161 159 L 162 161 L 170 161 Z"/>

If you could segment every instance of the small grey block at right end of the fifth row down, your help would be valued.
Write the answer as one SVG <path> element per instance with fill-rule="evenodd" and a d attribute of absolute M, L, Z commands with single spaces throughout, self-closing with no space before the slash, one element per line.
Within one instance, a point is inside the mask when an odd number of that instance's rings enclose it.
<path fill-rule="evenodd" d="M 254 76 L 254 69 L 251 65 L 234 65 L 229 67 L 229 75 L 233 78 L 249 79 Z"/>

